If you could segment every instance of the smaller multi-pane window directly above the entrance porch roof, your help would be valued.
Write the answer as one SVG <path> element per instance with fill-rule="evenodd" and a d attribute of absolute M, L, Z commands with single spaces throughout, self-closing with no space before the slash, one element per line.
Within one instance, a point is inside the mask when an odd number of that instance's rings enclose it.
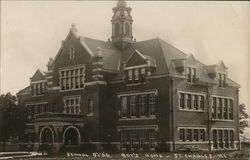
<path fill-rule="evenodd" d="M 67 114 L 80 114 L 80 97 L 64 98 L 64 112 Z"/>

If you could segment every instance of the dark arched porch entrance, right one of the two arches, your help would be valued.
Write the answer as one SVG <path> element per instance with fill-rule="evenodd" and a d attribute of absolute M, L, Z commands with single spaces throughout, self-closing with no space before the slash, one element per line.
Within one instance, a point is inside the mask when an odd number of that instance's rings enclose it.
<path fill-rule="evenodd" d="M 65 129 L 63 133 L 63 143 L 65 145 L 79 145 L 80 139 L 80 132 L 76 127 L 70 126 Z"/>

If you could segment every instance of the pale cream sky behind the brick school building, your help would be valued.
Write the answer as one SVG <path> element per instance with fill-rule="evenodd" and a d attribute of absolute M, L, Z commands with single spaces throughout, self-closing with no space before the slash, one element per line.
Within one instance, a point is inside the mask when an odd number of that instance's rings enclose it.
<path fill-rule="evenodd" d="M 1 1 L 0 93 L 16 94 L 46 71 L 74 23 L 81 36 L 111 37 L 115 1 Z M 137 41 L 159 37 L 204 64 L 223 60 L 250 114 L 249 2 L 128 1 Z M 250 129 L 247 130 L 250 137 Z"/>

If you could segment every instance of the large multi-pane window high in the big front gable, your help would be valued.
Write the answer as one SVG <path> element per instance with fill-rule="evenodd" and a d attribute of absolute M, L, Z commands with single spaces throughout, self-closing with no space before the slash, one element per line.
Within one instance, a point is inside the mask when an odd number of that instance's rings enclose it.
<path fill-rule="evenodd" d="M 84 88 L 84 67 L 64 69 L 60 71 L 61 90 L 75 90 Z"/>

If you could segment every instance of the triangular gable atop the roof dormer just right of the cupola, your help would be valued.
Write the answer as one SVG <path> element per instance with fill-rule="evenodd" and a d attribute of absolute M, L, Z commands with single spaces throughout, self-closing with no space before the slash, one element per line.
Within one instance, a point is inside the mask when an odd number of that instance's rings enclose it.
<path fill-rule="evenodd" d="M 149 56 L 147 56 L 149 58 Z M 135 50 L 133 54 L 130 55 L 126 63 L 126 67 L 147 65 L 147 58 L 138 50 Z"/>

